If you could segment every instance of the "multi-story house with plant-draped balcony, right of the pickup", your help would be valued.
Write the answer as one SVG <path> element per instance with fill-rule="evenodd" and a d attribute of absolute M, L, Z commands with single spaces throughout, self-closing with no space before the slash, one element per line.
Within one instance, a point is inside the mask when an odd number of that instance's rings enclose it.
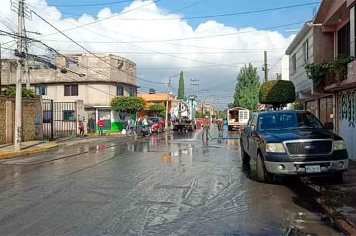
<path fill-rule="evenodd" d="M 290 80 L 298 101 L 325 122 L 333 122 L 335 132 L 346 141 L 350 158 L 356 159 L 356 61 L 355 56 L 355 0 L 323 0 L 310 22 L 289 45 Z M 305 65 L 325 64 L 351 56 L 347 76 L 335 72 L 316 86 L 307 77 Z"/>

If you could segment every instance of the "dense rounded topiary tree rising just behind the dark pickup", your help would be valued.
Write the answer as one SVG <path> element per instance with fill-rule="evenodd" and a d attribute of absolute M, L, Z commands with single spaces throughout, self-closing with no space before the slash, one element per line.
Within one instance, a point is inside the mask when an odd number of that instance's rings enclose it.
<path fill-rule="evenodd" d="M 272 105 L 274 110 L 295 101 L 295 87 L 289 80 L 270 80 L 262 83 L 259 90 L 259 103 Z"/>

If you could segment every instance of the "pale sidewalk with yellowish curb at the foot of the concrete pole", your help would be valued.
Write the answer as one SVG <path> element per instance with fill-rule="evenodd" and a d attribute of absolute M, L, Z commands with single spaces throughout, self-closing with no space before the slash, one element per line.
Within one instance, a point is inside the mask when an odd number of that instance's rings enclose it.
<path fill-rule="evenodd" d="M 58 146 L 57 142 L 28 141 L 28 142 L 21 143 L 20 151 L 15 151 L 14 144 L 8 144 L 8 145 L 4 144 L 4 145 L 0 145 L 0 159 L 41 153 L 49 149 L 53 149 L 54 147 L 57 146 Z"/>

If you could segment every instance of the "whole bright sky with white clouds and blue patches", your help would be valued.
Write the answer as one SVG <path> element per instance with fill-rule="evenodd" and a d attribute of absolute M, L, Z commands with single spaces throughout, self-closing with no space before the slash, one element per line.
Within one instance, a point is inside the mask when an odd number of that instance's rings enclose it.
<path fill-rule="evenodd" d="M 10 0 L 1 0 L 0 30 L 16 29 L 17 16 Z M 13 0 L 13 2 L 16 2 Z M 313 16 L 316 1 L 306 0 L 25 0 L 28 12 L 35 11 L 55 27 L 93 52 L 110 52 L 137 64 L 137 75 L 152 83 L 138 81 L 141 91 L 154 87 L 166 91 L 168 77 L 185 72 L 186 91 L 190 78 L 199 79 L 198 92 L 209 90 L 212 101 L 220 97 L 221 107 L 233 95 L 236 75 L 244 63 L 252 62 L 260 72 L 263 49 L 273 69 L 270 77 L 280 72 L 278 59 L 295 36 L 285 33 L 302 26 Z M 74 5 L 74 6 L 73 6 Z M 87 6 L 80 6 L 87 5 Z M 293 5 L 305 5 L 285 8 Z M 276 8 L 272 11 L 243 13 Z M 277 9 L 282 8 L 282 9 Z M 85 25 L 85 26 L 81 26 Z M 63 52 L 83 51 L 54 28 L 32 14 L 26 19 L 31 35 Z M 80 26 L 80 27 L 78 27 Z M 56 33 L 56 34 L 55 34 Z M 10 38 L 0 36 L 0 42 Z M 3 47 L 15 48 L 8 43 Z M 43 54 L 33 46 L 31 52 Z M 3 49 L 3 57 L 12 57 Z M 262 72 L 261 72 L 262 74 Z M 172 79 L 177 89 L 179 77 Z M 200 95 L 200 98 L 202 95 Z"/>

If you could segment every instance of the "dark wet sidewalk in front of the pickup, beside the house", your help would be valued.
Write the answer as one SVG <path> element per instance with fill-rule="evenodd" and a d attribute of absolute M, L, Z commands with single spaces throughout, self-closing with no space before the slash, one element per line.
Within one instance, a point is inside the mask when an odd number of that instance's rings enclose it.
<path fill-rule="evenodd" d="M 330 215 L 335 226 L 346 235 L 356 235 L 356 162 L 349 162 L 342 184 L 320 184 L 310 180 L 305 183 L 319 192 L 316 201 Z"/>

